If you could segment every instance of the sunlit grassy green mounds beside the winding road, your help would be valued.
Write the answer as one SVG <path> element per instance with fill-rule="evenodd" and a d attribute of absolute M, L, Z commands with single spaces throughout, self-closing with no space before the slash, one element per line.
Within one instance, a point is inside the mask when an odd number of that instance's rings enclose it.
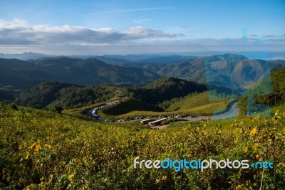
<path fill-rule="evenodd" d="M 107 102 L 111 100 L 118 100 L 118 97 L 113 97 Z M 98 102 L 81 108 L 63 110 L 63 114 L 71 115 L 84 120 L 90 120 L 88 116 L 84 115 L 84 112 L 93 107 L 104 105 L 105 103 L 106 102 Z M 228 105 L 229 100 L 219 100 L 214 102 L 209 101 L 208 95 L 205 92 L 188 95 L 184 99 L 172 104 L 167 111 L 159 112 L 145 102 L 127 97 L 125 101 L 120 102 L 119 104 L 99 110 L 99 115 L 108 119 L 155 115 L 212 115 L 212 113 L 217 112 L 217 110 L 226 110 Z"/>

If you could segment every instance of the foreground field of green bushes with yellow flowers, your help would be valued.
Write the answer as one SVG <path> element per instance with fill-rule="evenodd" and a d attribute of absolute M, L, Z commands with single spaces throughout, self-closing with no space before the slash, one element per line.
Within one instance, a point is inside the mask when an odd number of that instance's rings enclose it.
<path fill-rule="evenodd" d="M 145 130 L 0 104 L 1 189 L 282 189 L 285 113 Z M 139 124 L 137 124 L 139 125 Z M 224 124 L 226 125 L 226 124 Z M 127 127 L 128 126 L 128 127 Z M 248 159 L 274 169 L 134 169 L 140 159 Z"/>

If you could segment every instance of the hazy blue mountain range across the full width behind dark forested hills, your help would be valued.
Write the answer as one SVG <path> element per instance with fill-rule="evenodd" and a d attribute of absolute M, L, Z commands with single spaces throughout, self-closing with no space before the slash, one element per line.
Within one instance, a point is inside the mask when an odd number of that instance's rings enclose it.
<path fill-rule="evenodd" d="M 31 58 L 43 54 L 24 53 L 22 56 L 24 55 L 26 58 L 28 56 Z M 84 86 L 103 84 L 132 86 L 146 85 L 159 78 L 172 77 L 192 80 L 195 83 L 207 82 L 208 88 L 209 85 L 214 85 L 214 88 L 217 85 L 234 88 L 233 70 L 240 61 L 244 60 L 249 59 L 229 53 L 205 57 L 129 55 L 92 58 L 53 56 L 28 60 L 0 58 L 0 100 L 1 97 L 11 97 L 15 90 L 28 90 L 46 81 Z M 270 62 L 254 60 L 254 62 L 263 67 L 262 72 L 267 73 L 269 68 L 273 71 L 285 65 L 285 60 L 270 60 Z M 222 69 L 213 70 L 212 63 L 216 66 L 222 65 Z M 245 69 L 244 72 L 254 77 L 251 70 Z"/>

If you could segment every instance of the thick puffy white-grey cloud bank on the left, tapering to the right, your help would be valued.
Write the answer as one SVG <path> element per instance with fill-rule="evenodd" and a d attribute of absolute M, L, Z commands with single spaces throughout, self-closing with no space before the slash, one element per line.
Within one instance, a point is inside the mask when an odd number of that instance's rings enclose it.
<path fill-rule="evenodd" d="M 84 28 L 81 26 L 28 26 L 25 21 L 14 19 L 10 23 L 0 21 L 0 44 L 51 45 L 116 43 L 145 38 L 174 38 L 180 33 L 166 33 L 152 28 L 134 27 L 125 31 L 115 28 Z"/>

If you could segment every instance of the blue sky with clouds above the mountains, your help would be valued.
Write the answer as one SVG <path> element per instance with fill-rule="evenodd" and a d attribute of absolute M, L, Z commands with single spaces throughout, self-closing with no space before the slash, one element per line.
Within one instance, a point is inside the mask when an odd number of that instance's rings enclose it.
<path fill-rule="evenodd" d="M 284 0 L 0 0 L 0 53 L 285 51 Z"/>

